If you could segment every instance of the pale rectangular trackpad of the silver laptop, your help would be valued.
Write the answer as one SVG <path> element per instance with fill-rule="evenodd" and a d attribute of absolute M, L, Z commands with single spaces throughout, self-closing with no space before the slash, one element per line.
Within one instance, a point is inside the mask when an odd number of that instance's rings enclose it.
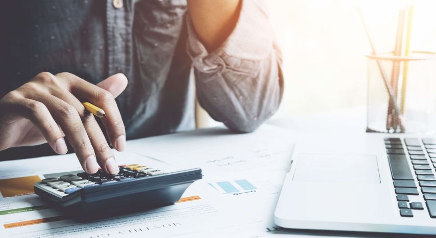
<path fill-rule="evenodd" d="M 293 181 L 380 183 L 377 157 L 357 154 L 299 154 Z"/>

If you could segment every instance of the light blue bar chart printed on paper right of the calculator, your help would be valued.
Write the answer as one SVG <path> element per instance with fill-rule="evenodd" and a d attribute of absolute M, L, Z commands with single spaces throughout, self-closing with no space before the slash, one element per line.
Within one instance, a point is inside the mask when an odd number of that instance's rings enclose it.
<path fill-rule="evenodd" d="M 257 191 L 256 186 L 247 179 L 237 179 L 231 181 L 209 182 L 210 187 L 222 194 L 239 195 L 245 193 L 254 193 Z"/>

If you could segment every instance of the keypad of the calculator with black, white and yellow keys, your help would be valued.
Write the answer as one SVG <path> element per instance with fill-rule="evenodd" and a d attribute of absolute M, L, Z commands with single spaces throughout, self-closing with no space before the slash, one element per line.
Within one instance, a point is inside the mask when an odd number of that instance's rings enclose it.
<path fill-rule="evenodd" d="M 45 178 L 41 182 L 35 184 L 38 188 L 52 193 L 57 197 L 64 197 L 70 193 L 79 191 L 89 186 L 99 186 L 100 184 L 108 184 L 118 181 L 134 180 L 137 178 L 154 176 L 163 174 L 159 169 L 148 168 L 147 166 L 132 164 L 127 166 L 119 166 L 118 174 L 107 174 L 103 170 L 97 171 L 95 174 L 87 174 L 85 172 L 62 175 L 59 178 Z"/>

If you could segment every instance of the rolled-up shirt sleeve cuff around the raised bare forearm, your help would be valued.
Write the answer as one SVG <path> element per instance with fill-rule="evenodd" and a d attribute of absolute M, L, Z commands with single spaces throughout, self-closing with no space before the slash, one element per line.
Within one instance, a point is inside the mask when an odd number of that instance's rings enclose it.
<path fill-rule="evenodd" d="M 235 29 L 224 43 L 211 52 L 201 43 L 189 15 L 187 51 L 193 65 L 204 73 L 221 73 L 227 65 L 239 60 L 258 61 L 273 49 L 273 36 L 268 15 L 261 1 L 243 1 Z M 231 62 L 229 62 L 231 61 Z"/>

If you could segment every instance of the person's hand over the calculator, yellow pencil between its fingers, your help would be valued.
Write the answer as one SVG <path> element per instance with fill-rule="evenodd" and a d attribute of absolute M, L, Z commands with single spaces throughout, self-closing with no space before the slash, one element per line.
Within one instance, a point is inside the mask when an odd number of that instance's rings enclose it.
<path fill-rule="evenodd" d="M 56 153 L 65 154 L 66 136 L 85 172 L 95 173 L 100 165 L 108 173 L 118 173 L 102 130 L 82 102 L 105 111 L 102 121 L 109 140 L 123 151 L 126 131 L 114 98 L 126 86 L 127 78 L 121 73 L 98 85 L 71 73 L 39 73 L 0 99 L 0 150 L 48 142 Z"/>

